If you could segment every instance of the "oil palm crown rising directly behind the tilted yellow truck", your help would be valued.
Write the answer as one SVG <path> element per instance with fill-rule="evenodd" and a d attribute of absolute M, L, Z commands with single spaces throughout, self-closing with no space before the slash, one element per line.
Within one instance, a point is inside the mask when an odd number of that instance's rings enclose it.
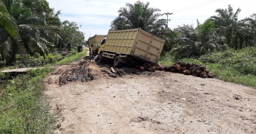
<path fill-rule="evenodd" d="M 161 30 L 166 27 L 164 19 L 158 19 L 162 16 L 160 9 L 149 7 L 149 2 L 145 4 L 137 1 L 134 4 L 126 3 L 126 7 L 118 10 L 119 15 L 111 22 L 111 29 L 131 29 L 142 28 L 143 30 L 154 33 L 155 30 Z"/>

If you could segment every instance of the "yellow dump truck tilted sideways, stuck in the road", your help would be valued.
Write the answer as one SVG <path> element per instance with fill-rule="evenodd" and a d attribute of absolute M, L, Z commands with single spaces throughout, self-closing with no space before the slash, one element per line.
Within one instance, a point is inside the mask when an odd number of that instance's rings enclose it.
<path fill-rule="evenodd" d="M 100 62 L 113 59 L 114 67 L 141 60 L 156 64 L 164 43 L 165 40 L 140 28 L 109 30 L 98 50 L 98 58 Z"/>

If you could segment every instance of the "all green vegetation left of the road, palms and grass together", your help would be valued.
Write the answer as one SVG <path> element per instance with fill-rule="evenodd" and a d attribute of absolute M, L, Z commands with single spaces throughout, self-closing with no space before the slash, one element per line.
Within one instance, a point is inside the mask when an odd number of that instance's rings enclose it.
<path fill-rule="evenodd" d="M 52 65 L 80 60 L 87 49 L 84 33 L 75 22 L 60 21 L 47 0 L 0 1 L 0 71 L 43 67 L 27 74 L 0 73 L 0 133 L 53 133 L 62 117 L 50 114 L 42 78 Z M 63 56 L 66 51 L 71 52 Z"/>

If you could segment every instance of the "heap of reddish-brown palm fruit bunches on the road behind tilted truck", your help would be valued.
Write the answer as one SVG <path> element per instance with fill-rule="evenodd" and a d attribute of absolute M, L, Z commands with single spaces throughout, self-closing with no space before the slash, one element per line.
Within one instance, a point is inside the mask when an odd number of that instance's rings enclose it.
<path fill-rule="evenodd" d="M 197 63 L 185 63 L 185 62 L 177 62 L 174 63 L 171 66 L 165 66 L 165 65 L 154 65 L 154 64 L 149 64 L 145 63 L 143 66 L 136 66 L 136 68 L 145 70 L 145 71 L 150 71 L 150 72 L 155 72 L 156 70 L 158 71 L 167 71 L 167 72 L 174 72 L 174 73 L 183 73 L 185 75 L 192 75 L 192 76 L 197 76 L 197 77 L 209 77 L 212 78 L 214 75 L 212 72 L 209 72 L 208 69 L 206 69 L 205 66 L 203 65 L 198 65 Z"/>

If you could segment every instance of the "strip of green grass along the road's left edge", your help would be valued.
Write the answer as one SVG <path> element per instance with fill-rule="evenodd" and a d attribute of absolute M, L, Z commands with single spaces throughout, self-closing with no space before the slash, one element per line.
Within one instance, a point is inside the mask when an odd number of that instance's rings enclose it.
<path fill-rule="evenodd" d="M 53 63 L 59 65 L 80 60 L 83 52 L 70 54 L 63 60 Z M 52 64 L 48 64 L 50 66 Z M 42 78 L 53 68 L 30 69 L 26 75 L 10 80 L 0 96 L 0 133 L 1 134 L 50 134 L 56 126 L 57 117 L 48 113 L 47 96 L 44 94 Z M 0 70 L 10 69 L 1 68 Z"/>

